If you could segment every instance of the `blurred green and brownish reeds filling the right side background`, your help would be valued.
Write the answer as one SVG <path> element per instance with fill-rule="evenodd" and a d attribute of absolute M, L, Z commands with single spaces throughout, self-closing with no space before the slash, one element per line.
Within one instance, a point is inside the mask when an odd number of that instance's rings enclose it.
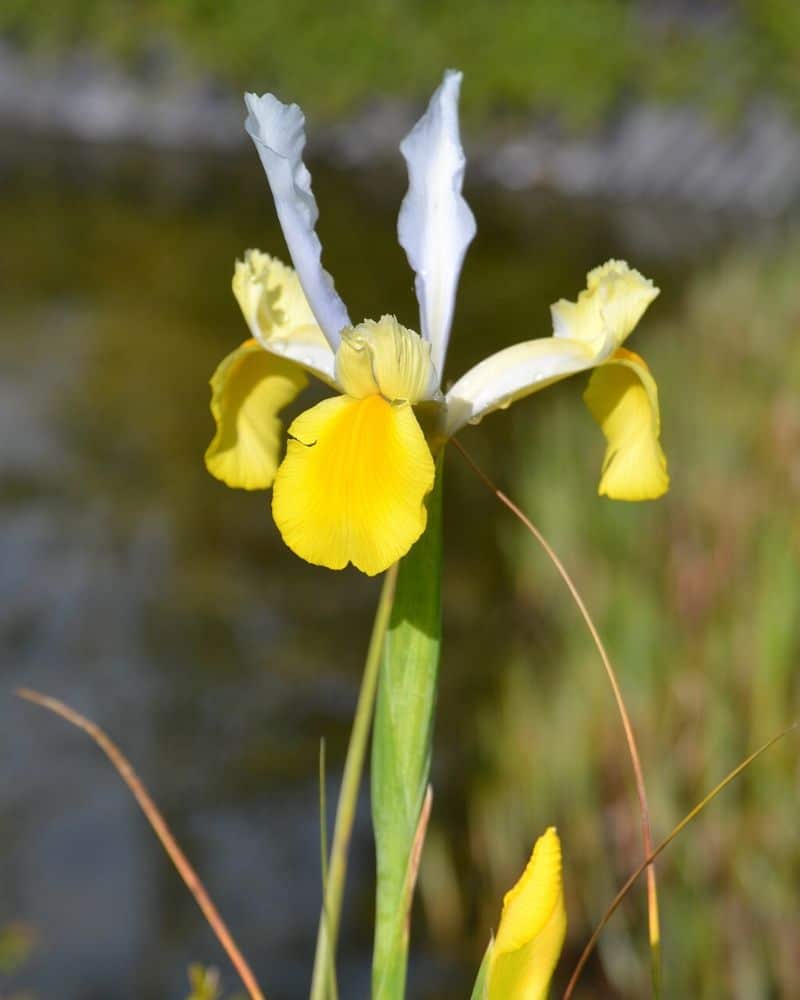
<path fill-rule="evenodd" d="M 798 273 L 796 236 L 733 251 L 634 335 L 659 383 L 672 472 L 657 504 L 614 504 L 587 488 L 602 442 L 576 399 L 582 386 L 540 420 L 533 402 L 514 413 L 510 493 L 564 558 L 607 641 L 656 840 L 800 717 Z M 525 454 L 536 460 L 519 462 Z M 468 837 L 488 928 L 532 838 L 559 825 L 571 918 L 563 974 L 641 856 L 638 813 L 577 611 L 535 542 L 516 523 L 505 532 L 517 614 L 539 624 L 493 668 L 500 695 L 481 714 Z M 799 759 L 796 737 L 771 750 L 660 863 L 667 996 L 796 995 Z M 643 886 L 632 896 L 600 949 L 608 995 L 630 998 L 647 991 Z"/>

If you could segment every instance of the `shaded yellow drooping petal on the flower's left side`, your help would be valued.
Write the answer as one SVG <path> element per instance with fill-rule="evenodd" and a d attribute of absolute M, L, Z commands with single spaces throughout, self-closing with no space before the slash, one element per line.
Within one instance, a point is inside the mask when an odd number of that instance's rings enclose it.
<path fill-rule="evenodd" d="M 211 378 L 211 413 L 217 433 L 206 468 L 228 486 L 263 490 L 272 485 L 280 457 L 277 414 L 306 387 L 303 370 L 255 340 L 229 354 Z"/>

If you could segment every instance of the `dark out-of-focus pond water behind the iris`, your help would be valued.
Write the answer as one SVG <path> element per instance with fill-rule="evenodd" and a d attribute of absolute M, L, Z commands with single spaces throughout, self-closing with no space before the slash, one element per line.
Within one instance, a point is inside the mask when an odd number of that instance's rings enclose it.
<path fill-rule="evenodd" d="M 416 326 L 395 239 L 402 176 L 317 169 L 315 190 L 325 262 L 351 314 L 392 311 Z M 451 378 L 546 335 L 548 304 L 609 256 L 656 277 L 669 310 L 715 235 L 668 210 L 471 200 L 478 238 Z M 163 1000 L 184 995 L 197 960 L 235 985 L 117 776 L 85 737 L 14 699 L 24 685 L 113 734 L 268 995 L 302 996 L 319 905 L 319 740 L 332 811 L 377 584 L 297 560 L 267 496 L 230 491 L 203 467 L 208 378 L 247 335 L 233 260 L 249 246 L 284 254 L 256 157 L 28 143 L 0 161 L 0 233 L 0 926 L 24 920 L 38 938 L 11 985 L 59 1000 Z M 578 388 L 552 393 L 579 406 Z M 547 419 L 549 395 L 523 404 L 528 419 Z M 509 431 L 501 414 L 463 436 L 501 479 L 535 459 Z M 598 438 L 598 465 L 601 452 Z M 471 725 L 517 622 L 497 541 L 504 515 L 454 454 L 445 502 L 434 784 L 438 821 L 457 841 Z M 351 859 L 348 998 L 369 981 L 366 796 Z M 467 995 L 479 943 L 436 959 L 422 919 L 416 931 L 411 994 Z"/>

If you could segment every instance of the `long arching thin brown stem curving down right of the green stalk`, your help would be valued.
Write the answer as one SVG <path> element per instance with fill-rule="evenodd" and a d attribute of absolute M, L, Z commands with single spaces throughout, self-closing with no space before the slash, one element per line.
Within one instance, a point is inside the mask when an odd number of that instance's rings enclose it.
<path fill-rule="evenodd" d="M 472 456 L 466 451 L 464 446 L 456 439 L 452 438 L 450 442 L 456 450 L 465 459 L 467 464 L 472 468 L 473 472 L 478 476 L 478 478 L 483 482 L 483 484 L 497 497 L 503 506 L 507 507 L 508 510 L 519 520 L 525 528 L 533 535 L 539 545 L 544 549 L 547 557 L 550 559 L 552 564 L 558 571 L 561 579 L 567 586 L 578 611 L 581 614 L 586 627 L 589 630 L 589 634 L 592 637 L 592 641 L 595 644 L 595 648 L 602 660 L 603 667 L 605 668 L 606 675 L 608 676 L 609 683 L 611 685 L 611 690 L 614 694 L 614 700 L 617 703 L 617 709 L 619 711 L 620 719 L 622 720 L 622 728 L 625 733 L 625 742 L 628 745 L 628 754 L 631 759 L 631 766 L 633 768 L 634 780 L 636 783 L 636 795 L 639 800 L 639 816 L 641 820 L 642 827 L 642 842 L 644 844 L 644 854 L 645 858 L 649 858 L 653 854 L 653 837 L 650 829 L 650 810 L 647 805 L 647 791 L 644 783 L 644 773 L 642 771 L 641 759 L 639 757 L 639 750 L 636 745 L 636 737 L 633 732 L 633 726 L 631 725 L 630 716 L 628 715 L 628 709 L 625 706 L 625 700 L 622 697 L 622 690 L 620 689 L 619 682 L 617 680 L 617 675 L 611 665 L 611 659 L 609 658 L 606 648 L 603 645 L 603 640 L 600 638 L 600 633 L 597 631 L 597 627 L 592 620 L 592 616 L 583 601 L 583 598 L 575 586 L 572 577 L 567 572 L 566 567 L 559 559 L 558 555 L 544 537 L 544 535 L 539 531 L 536 525 L 531 521 L 531 519 L 521 510 L 514 501 L 508 497 L 503 491 L 496 486 L 492 480 L 486 475 L 486 473 L 480 468 L 480 466 L 475 462 Z M 656 872 L 655 868 L 652 867 L 649 861 L 644 863 L 643 868 L 647 868 L 647 919 L 649 927 L 649 938 L 650 938 L 650 971 L 653 984 L 653 994 L 655 997 L 661 995 L 661 928 L 660 920 L 658 914 L 658 890 L 656 885 Z"/>

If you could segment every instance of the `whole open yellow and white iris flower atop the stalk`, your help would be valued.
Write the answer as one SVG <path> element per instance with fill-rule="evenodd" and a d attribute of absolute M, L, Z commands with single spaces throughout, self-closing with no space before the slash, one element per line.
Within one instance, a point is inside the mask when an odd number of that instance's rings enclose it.
<path fill-rule="evenodd" d="M 449 71 L 400 146 L 409 188 L 398 236 L 416 275 L 419 332 L 392 315 L 353 323 L 322 267 L 305 119 L 296 104 L 247 94 L 245 128 L 272 189 L 294 269 L 249 250 L 233 291 L 252 338 L 211 380 L 217 433 L 212 475 L 244 489 L 272 487 L 286 544 L 331 569 L 380 573 L 425 530 L 434 454 L 467 423 L 576 372 L 594 369 L 585 394 L 607 439 L 600 493 L 660 496 L 668 485 L 650 372 L 623 341 L 658 295 L 622 261 L 591 271 L 575 302 L 552 307 L 553 336 L 507 347 L 449 388 L 442 376 L 456 287 L 475 235 L 461 194 L 461 74 Z M 280 411 L 308 375 L 336 395 L 301 413 L 283 437 Z"/>

